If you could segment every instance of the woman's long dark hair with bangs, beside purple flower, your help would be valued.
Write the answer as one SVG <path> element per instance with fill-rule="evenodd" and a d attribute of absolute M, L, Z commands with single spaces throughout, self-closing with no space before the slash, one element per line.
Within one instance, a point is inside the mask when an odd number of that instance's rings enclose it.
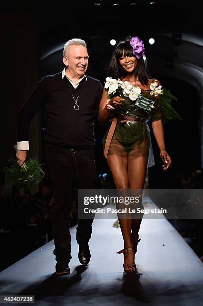
<path fill-rule="evenodd" d="M 108 64 L 108 76 L 118 79 L 123 78 L 126 75 L 126 71 L 124 71 L 121 67 L 119 59 L 122 57 L 123 51 L 125 56 L 136 57 L 133 54 L 133 48 L 130 45 L 129 41 L 130 38 L 126 38 L 125 40 L 118 42 Z M 135 77 L 138 76 L 138 79 L 141 84 L 146 85 L 148 83 L 148 80 L 150 79 L 150 76 L 147 73 L 147 67 L 144 62 L 143 56 L 141 56 L 140 58 L 136 57 L 136 60 L 137 65 L 135 68 Z"/>

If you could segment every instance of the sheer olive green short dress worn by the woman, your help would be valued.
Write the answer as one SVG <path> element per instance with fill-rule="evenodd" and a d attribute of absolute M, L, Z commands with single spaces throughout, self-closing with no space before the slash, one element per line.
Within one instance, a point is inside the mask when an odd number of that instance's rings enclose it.
<path fill-rule="evenodd" d="M 178 113 L 171 106 L 171 99 L 176 99 L 176 97 L 174 97 L 169 90 L 166 90 L 165 88 L 163 89 L 163 95 L 158 96 L 150 95 L 151 90 L 141 90 L 141 95 L 154 101 L 154 108 L 151 110 L 145 110 L 137 106 L 136 100 L 130 100 L 129 97 L 124 96 L 120 91 L 117 91 L 114 94 L 114 96 L 120 95 L 122 98 L 125 98 L 125 100 L 122 102 L 122 106 L 117 108 L 113 114 L 118 118 L 118 121 L 111 139 L 108 155 L 128 155 L 134 157 L 145 156 L 148 157 L 148 167 L 155 164 L 148 121 L 157 121 L 162 119 L 164 105 L 166 106 L 164 121 L 168 121 L 175 117 L 180 119 Z M 132 116 L 134 118 L 136 116 L 138 119 L 144 118 L 144 121 L 129 119 L 126 122 L 121 123 L 123 116 Z M 109 128 L 103 138 L 103 149 L 105 147 Z"/>

